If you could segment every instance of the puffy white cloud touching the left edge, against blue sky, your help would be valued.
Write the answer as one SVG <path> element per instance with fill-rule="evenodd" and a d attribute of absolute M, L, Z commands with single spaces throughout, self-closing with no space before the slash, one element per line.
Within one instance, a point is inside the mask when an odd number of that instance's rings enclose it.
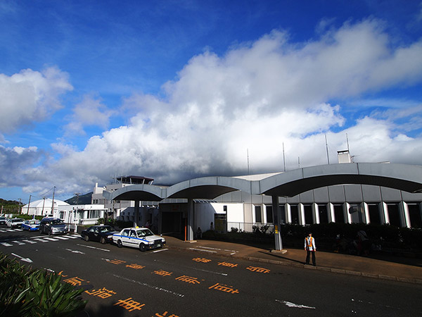
<path fill-rule="evenodd" d="M 59 97 L 70 90 L 68 74 L 55 67 L 0 74 L 0 134 L 45 120 L 62 107 Z"/>

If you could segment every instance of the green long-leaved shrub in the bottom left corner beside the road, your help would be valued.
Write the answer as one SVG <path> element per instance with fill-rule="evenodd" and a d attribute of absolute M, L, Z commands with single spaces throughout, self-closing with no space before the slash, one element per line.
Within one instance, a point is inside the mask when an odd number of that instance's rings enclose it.
<path fill-rule="evenodd" d="M 61 275 L 32 270 L 0 254 L 0 316 L 70 317 L 82 311 L 82 289 L 61 282 Z"/>

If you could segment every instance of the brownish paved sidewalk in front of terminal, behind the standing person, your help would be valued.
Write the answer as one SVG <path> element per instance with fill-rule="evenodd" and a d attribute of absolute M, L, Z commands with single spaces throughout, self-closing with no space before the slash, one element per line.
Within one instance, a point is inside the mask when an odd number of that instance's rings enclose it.
<path fill-rule="evenodd" d="M 317 251 L 316 266 L 306 266 L 306 252 L 301 249 L 284 249 L 284 253 L 282 253 L 281 251 L 261 249 L 260 247 L 250 247 L 245 244 L 213 240 L 184 242 L 170 236 L 165 236 L 165 240 L 167 247 L 171 249 L 200 251 L 204 254 L 229 256 L 283 266 L 295 266 L 309 270 L 422 284 L 422 259 L 400 259 L 397 256 L 385 254 L 364 257 Z"/>

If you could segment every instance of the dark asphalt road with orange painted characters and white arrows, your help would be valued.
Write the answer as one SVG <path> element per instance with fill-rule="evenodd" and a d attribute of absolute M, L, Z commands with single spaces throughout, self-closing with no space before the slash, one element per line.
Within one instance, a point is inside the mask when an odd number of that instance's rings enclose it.
<path fill-rule="evenodd" d="M 421 285 L 0 227 L 0 251 L 85 292 L 79 316 L 422 316 Z"/>

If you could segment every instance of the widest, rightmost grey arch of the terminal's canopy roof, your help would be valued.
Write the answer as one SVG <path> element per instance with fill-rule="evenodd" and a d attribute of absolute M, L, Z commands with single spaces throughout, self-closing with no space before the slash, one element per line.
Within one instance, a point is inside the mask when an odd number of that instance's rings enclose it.
<path fill-rule="evenodd" d="M 390 163 L 342 163 L 291 170 L 264 178 L 258 192 L 293 197 L 311 189 L 331 185 L 363 184 L 422 192 L 422 166 Z"/>

